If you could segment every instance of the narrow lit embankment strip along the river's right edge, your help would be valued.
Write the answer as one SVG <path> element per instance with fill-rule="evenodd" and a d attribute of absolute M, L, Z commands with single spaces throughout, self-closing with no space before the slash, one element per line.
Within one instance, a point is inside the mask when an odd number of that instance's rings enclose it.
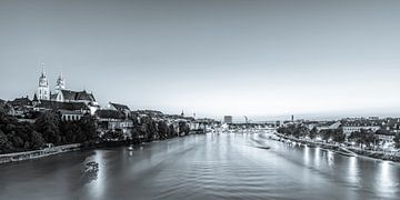
<path fill-rule="evenodd" d="M 322 143 L 322 142 L 314 142 L 314 141 L 310 141 L 310 140 L 302 140 L 302 139 L 298 139 L 298 138 L 292 138 L 292 137 L 288 137 L 281 133 L 276 132 L 274 136 L 277 136 L 279 139 L 279 141 L 283 141 L 283 140 L 290 140 L 293 142 L 299 142 L 302 143 L 304 146 L 314 148 L 314 147 L 319 147 L 322 149 L 328 149 L 328 150 L 333 150 L 337 153 L 343 154 L 343 156 L 362 156 L 362 157 L 367 157 L 367 158 L 372 158 L 372 159 L 379 159 L 379 160 L 389 160 L 389 161 L 393 161 L 393 162 L 400 162 L 400 154 L 396 154 L 396 153 L 388 153 L 388 152 L 383 152 L 383 151 L 369 151 L 369 150 L 363 150 L 363 149 L 358 149 L 358 148 L 351 148 L 351 147 L 340 147 L 338 144 L 331 144 L 331 143 Z"/>

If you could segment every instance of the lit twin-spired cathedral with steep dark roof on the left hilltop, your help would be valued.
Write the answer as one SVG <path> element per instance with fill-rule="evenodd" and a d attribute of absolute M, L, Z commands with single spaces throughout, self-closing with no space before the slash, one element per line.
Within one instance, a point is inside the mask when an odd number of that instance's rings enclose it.
<path fill-rule="evenodd" d="M 41 74 L 39 77 L 39 87 L 33 96 L 33 101 L 37 102 L 39 107 L 57 107 L 60 108 L 59 110 L 63 110 L 62 108 L 66 107 L 79 108 L 77 106 L 80 104 L 84 106 L 84 108 L 87 108 L 91 114 L 93 114 L 96 110 L 99 109 L 99 104 L 92 93 L 88 93 L 86 90 L 68 90 L 66 87 L 66 79 L 63 78 L 62 73 L 59 74 L 53 91 L 54 92 L 51 92 L 50 90 L 44 68 L 42 68 Z"/>

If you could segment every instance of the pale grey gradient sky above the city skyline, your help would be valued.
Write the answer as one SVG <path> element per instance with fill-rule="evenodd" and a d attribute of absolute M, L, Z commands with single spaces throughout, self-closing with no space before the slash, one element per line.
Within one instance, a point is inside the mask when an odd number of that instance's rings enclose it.
<path fill-rule="evenodd" d="M 1 0 L 0 98 L 253 120 L 399 114 L 400 1 Z"/>

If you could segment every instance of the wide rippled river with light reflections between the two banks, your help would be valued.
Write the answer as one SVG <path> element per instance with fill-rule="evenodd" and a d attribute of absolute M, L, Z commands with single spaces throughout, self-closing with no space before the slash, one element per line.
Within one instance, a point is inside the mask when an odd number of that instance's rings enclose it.
<path fill-rule="evenodd" d="M 266 149 L 264 147 L 270 147 Z M 209 133 L 0 166 L 0 199 L 399 199 L 400 166 Z"/>

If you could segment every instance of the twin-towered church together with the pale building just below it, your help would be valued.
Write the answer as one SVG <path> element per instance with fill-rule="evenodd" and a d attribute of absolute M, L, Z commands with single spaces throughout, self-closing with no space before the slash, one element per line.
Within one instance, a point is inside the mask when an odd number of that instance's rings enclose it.
<path fill-rule="evenodd" d="M 68 90 L 62 73 L 56 81 L 54 92 L 51 92 L 44 68 L 39 77 L 33 102 L 36 110 L 57 110 L 63 120 L 79 120 L 86 113 L 94 114 L 100 108 L 92 93 Z"/>

